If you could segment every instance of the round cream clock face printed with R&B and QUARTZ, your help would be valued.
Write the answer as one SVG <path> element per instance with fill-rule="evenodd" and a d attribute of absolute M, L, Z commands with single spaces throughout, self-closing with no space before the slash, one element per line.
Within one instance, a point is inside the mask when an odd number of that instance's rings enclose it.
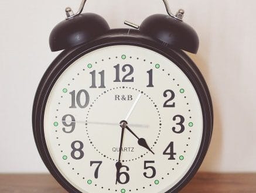
<path fill-rule="evenodd" d="M 50 157 L 81 192 L 166 192 L 189 173 L 203 135 L 199 97 L 175 63 L 138 46 L 80 57 L 47 98 Z"/>

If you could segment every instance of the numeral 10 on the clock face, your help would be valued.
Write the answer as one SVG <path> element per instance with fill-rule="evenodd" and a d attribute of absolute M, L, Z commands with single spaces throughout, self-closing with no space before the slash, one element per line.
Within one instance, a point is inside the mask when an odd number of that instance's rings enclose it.
<path fill-rule="evenodd" d="M 77 108 L 76 104 L 80 108 L 86 108 L 88 106 L 90 101 L 90 96 L 86 90 L 78 91 L 77 95 L 76 95 L 76 91 L 72 91 L 69 94 L 71 95 L 71 106 L 69 108 Z M 83 104 L 81 100 L 83 100 Z"/>

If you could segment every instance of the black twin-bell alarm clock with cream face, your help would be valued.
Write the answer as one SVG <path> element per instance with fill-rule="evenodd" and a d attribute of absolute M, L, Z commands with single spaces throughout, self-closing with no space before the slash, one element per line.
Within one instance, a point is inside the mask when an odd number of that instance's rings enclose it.
<path fill-rule="evenodd" d="M 184 51 L 199 38 L 176 15 L 110 29 L 94 13 L 54 27 L 53 61 L 37 88 L 33 133 L 69 192 L 178 192 L 202 164 L 213 129 L 209 89 Z M 132 29 L 134 28 L 134 29 Z"/>

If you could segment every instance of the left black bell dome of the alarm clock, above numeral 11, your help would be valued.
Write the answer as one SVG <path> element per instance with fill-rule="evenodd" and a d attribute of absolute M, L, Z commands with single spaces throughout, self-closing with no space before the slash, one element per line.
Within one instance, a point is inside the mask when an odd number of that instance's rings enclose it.
<path fill-rule="evenodd" d="M 100 15 L 81 14 L 85 2 L 86 0 L 82 2 L 76 14 L 70 8 L 66 8 L 66 20 L 60 22 L 50 33 L 49 43 L 52 51 L 70 49 L 89 42 L 110 29 L 106 20 Z"/>

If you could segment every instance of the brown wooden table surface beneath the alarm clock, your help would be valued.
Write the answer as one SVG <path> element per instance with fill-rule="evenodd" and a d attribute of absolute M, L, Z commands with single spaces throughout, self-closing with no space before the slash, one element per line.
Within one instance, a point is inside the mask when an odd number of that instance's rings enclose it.
<path fill-rule="evenodd" d="M 0 174 L 0 192 L 66 191 L 48 174 Z M 256 192 L 256 174 L 198 173 L 181 192 Z"/>

